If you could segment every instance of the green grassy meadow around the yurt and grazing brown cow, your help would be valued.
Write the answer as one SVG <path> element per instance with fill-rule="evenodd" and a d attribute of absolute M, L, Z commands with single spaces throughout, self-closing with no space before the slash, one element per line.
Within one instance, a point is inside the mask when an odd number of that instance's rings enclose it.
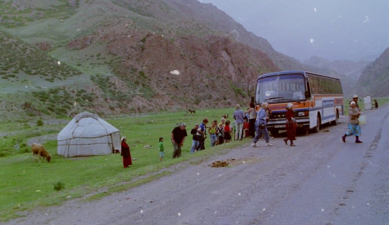
<path fill-rule="evenodd" d="M 53 206 L 66 200 L 84 197 L 86 201 L 105 195 L 127 190 L 171 173 L 174 164 L 189 161 L 198 163 L 204 157 L 221 154 L 229 148 L 242 145 L 231 142 L 210 148 L 206 139 L 206 150 L 190 154 L 192 136 L 190 129 L 203 118 L 220 120 L 222 114 L 232 115 L 233 109 L 212 109 L 196 111 L 191 115 L 185 112 L 161 112 L 141 116 L 116 116 L 105 118 L 107 122 L 127 137 L 133 161 L 130 168 L 123 168 L 120 154 L 105 156 L 65 158 L 56 154 L 57 134 L 65 124 L 30 126 L 27 121 L 4 122 L 0 125 L 0 221 L 20 216 L 20 212 L 37 206 Z M 71 118 L 67 118 L 70 121 Z M 45 121 L 43 121 L 45 123 Z M 179 122 L 187 124 L 188 137 L 183 145 L 182 156 L 172 160 L 173 147 L 170 142 L 171 131 Z M 164 137 L 165 157 L 159 162 L 158 139 Z M 44 142 L 52 154 L 52 161 L 33 159 L 31 138 L 48 138 Z M 2 140 L 1 140 L 2 139 Z M 151 147 L 144 148 L 145 145 Z M 168 170 L 161 170 L 170 168 Z M 64 186 L 60 191 L 54 188 Z"/>

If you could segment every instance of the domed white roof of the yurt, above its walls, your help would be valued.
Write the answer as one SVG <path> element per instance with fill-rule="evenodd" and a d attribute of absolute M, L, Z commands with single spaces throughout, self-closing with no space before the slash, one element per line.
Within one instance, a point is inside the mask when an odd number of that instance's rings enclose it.
<path fill-rule="evenodd" d="M 118 131 L 98 115 L 81 112 L 58 133 L 57 140 L 102 137 Z"/>

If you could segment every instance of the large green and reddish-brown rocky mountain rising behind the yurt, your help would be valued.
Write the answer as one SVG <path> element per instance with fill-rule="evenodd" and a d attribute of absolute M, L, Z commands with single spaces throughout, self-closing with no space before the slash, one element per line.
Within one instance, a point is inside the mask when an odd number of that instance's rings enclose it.
<path fill-rule="evenodd" d="M 196 0 L 0 2 L 0 104 L 11 115 L 230 107 L 248 104 L 260 74 L 331 72 Z"/>

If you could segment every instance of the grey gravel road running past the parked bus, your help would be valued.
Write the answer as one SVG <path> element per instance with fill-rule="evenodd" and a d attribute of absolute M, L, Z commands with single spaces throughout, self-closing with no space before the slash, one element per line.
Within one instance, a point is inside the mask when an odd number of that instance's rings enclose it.
<path fill-rule="evenodd" d="M 347 118 L 274 146 L 245 143 L 94 202 L 72 200 L 7 225 L 388 225 L 389 106 L 364 112 L 363 144 L 341 141 Z M 328 131 L 327 131 L 328 130 Z M 229 160 L 229 167 L 213 168 Z"/>

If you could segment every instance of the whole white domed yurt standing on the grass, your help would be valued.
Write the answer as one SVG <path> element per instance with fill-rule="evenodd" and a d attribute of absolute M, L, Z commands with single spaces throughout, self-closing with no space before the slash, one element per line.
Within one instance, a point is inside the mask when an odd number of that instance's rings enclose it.
<path fill-rule="evenodd" d="M 81 112 L 58 133 L 58 155 L 107 155 L 121 149 L 120 131 L 90 112 Z"/>

